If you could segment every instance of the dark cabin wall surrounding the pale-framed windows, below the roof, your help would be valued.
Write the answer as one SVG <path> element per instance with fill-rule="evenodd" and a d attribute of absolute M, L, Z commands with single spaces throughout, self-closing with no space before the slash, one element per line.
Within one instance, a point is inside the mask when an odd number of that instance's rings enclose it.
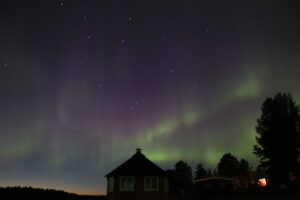
<path fill-rule="evenodd" d="M 120 191 L 120 178 L 114 177 L 114 191 L 107 193 L 108 200 L 168 200 L 164 191 L 164 178 L 159 177 L 158 191 L 144 191 L 144 176 L 134 177 L 134 191 Z"/>

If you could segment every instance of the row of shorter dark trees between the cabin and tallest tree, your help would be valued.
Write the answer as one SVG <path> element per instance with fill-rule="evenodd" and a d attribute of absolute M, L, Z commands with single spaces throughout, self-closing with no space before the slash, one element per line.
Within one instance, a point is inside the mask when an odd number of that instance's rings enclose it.
<path fill-rule="evenodd" d="M 255 170 L 249 165 L 245 159 L 238 160 L 237 157 L 230 153 L 224 154 L 217 167 L 213 170 L 205 169 L 202 163 L 196 166 L 195 171 L 184 161 L 178 161 L 174 169 L 166 171 L 170 179 L 170 190 L 189 199 L 193 194 L 193 180 L 208 178 L 213 176 L 221 176 L 235 179 L 239 188 L 247 189 L 251 185 L 257 184 L 255 180 L 265 177 L 265 171 L 258 166 Z M 253 182 L 254 181 L 254 182 Z"/>

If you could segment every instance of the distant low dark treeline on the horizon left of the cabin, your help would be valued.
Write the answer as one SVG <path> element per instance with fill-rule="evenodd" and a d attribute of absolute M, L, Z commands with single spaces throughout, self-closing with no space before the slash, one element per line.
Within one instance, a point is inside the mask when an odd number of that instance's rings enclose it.
<path fill-rule="evenodd" d="M 101 200 L 104 196 L 88 196 L 62 190 L 32 187 L 0 187 L 0 198 L 9 200 Z"/>

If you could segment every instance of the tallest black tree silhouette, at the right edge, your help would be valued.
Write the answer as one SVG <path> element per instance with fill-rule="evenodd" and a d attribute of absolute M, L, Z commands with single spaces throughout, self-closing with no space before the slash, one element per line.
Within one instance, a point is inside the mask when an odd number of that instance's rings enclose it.
<path fill-rule="evenodd" d="M 262 104 L 257 119 L 254 154 L 270 176 L 270 183 L 281 184 L 295 174 L 300 158 L 299 106 L 291 94 L 278 93 Z"/>

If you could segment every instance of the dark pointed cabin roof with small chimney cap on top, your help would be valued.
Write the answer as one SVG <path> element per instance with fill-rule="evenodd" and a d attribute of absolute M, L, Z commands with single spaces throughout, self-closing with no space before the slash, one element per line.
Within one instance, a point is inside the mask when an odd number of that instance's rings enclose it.
<path fill-rule="evenodd" d="M 122 165 L 109 172 L 109 176 L 164 176 L 165 171 L 154 164 L 137 149 L 136 153 Z"/>

